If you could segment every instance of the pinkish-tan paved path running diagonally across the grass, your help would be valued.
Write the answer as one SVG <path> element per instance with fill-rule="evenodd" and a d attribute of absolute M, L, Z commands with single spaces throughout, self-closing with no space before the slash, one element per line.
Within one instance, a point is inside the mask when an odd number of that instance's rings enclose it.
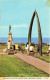
<path fill-rule="evenodd" d="M 21 60 L 27 62 L 28 64 L 31 64 L 33 66 L 35 66 L 36 68 L 38 68 L 39 70 L 42 70 L 48 74 L 50 74 L 50 63 L 47 63 L 43 60 L 40 60 L 38 58 L 35 58 L 33 56 L 29 56 L 26 54 L 16 54 L 16 56 L 18 58 L 20 58 Z"/>

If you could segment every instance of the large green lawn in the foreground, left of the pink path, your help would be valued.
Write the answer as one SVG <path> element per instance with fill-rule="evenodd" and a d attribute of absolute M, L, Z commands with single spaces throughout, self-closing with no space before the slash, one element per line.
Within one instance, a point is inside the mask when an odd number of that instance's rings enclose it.
<path fill-rule="evenodd" d="M 0 77 L 49 77 L 14 55 L 0 54 Z"/>

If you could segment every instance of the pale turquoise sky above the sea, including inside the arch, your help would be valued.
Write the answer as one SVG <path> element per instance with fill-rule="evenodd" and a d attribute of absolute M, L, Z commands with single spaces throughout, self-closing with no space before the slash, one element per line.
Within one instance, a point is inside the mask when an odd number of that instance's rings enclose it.
<path fill-rule="evenodd" d="M 0 0 L 0 37 L 8 37 L 9 25 L 13 37 L 28 37 L 33 12 L 37 11 L 42 37 L 50 37 L 50 0 Z M 32 37 L 38 37 L 36 16 Z"/>

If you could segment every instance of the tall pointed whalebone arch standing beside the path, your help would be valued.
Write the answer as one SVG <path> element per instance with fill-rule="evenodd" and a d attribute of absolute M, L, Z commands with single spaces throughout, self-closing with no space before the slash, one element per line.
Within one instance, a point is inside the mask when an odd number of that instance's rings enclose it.
<path fill-rule="evenodd" d="M 37 14 L 36 10 L 33 13 L 33 16 L 32 16 L 32 19 L 31 19 L 31 23 L 30 23 L 30 27 L 29 27 L 28 44 L 29 44 L 29 46 L 31 45 L 31 33 L 32 33 L 33 21 L 34 21 L 35 16 L 36 16 L 36 19 L 37 19 L 37 27 L 38 27 L 39 54 L 42 55 L 42 34 L 41 34 L 40 22 L 39 22 L 39 18 L 38 18 L 38 14 Z"/>

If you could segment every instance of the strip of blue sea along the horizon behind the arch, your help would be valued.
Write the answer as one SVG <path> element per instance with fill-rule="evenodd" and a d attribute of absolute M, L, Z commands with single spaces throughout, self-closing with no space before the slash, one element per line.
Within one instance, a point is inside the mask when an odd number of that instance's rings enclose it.
<path fill-rule="evenodd" d="M 0 42 L 1 43 L 7 43 L 8 38 L 7 37 L 0 37 Z M 38 38 L 32 38 L 31 39 L 32 42 L 34 43 L 38 43 Z M 13 38 L 13 43 L 27 43 L 28 42 L 28 38 Z M 43 43 L 47 43 L 50 44 L 50 38 L 42 38 L 42 42 Z"/>

